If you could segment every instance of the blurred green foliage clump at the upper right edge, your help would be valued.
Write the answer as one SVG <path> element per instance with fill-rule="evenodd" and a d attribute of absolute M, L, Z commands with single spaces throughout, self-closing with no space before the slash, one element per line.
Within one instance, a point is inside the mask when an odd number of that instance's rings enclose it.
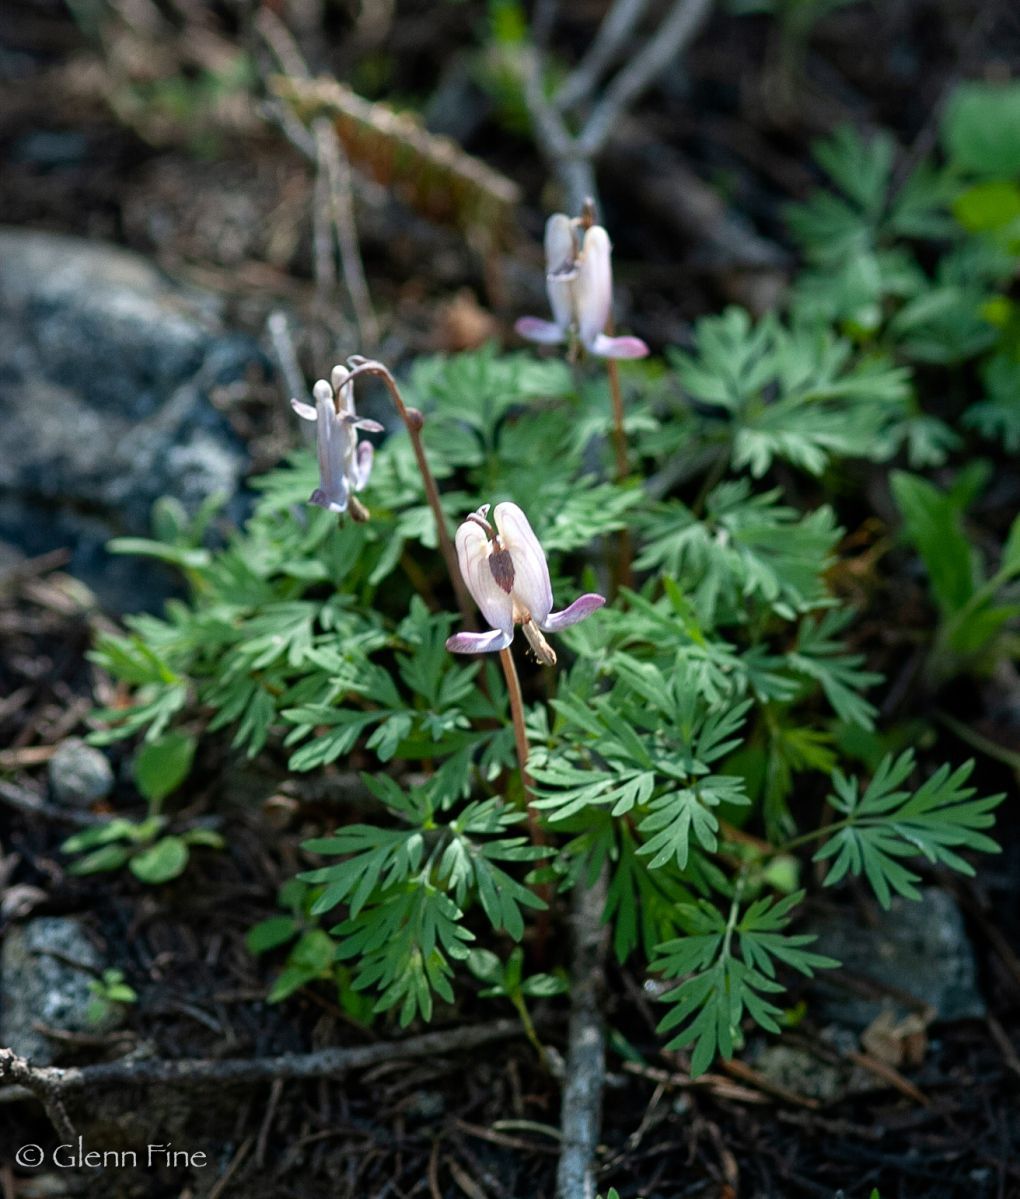
<path fill-rule="evenodd" d="M 947 370 L 943 411 L 917 406 L 903 429 L 916 468 L 944 462 L 960 426 L 1020 446 L 1020 309 L 1009 294 L 1020 264 L 1018 113 L 1015 82 L 959 86 L 941 121 L 942 161 L 906 173 L 891 135 L 841 127 L 816 147 L 831 186 L 789 210 L 808 264 L 793 312 L 897 362 Z"/>

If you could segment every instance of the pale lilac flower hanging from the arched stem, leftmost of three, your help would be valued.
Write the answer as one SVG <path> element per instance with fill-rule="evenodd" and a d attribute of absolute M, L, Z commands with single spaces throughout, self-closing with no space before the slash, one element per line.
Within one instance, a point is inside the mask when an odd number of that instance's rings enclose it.
<path fill-rule="evenodd" d="M 372 472 L 373 446 L 358 445 L 357 430 L 381 433 L 378 421 L 360 420 L 354 406 L 354 382 L 344 366 L 333 367 L 331 382 L 320 379 L 312 388 L 315 406 L 291 399 L 290 406 L 302 420 L 315 421 L 315 448 L 319 454 L 319 486 L 308 496 L 330 512 L 346 512 L 355 519 L 368 517 L 366 508 L 354 498 L 368 482 Z"/>

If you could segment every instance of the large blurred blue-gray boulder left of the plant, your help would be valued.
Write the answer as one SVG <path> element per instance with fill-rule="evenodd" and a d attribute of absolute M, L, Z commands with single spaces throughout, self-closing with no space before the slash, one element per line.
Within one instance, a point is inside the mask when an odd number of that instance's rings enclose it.
<path fill-rule="evenodd" d="M 247 456 L 210 394 L 264 369 L 258 345 L 113 246 L 0 229 L 0 537 L 68 546 L 108 607 L 157 605 L 173 574 L 103 546 L 146 535 L 161 495 L 236 496 Z"/>

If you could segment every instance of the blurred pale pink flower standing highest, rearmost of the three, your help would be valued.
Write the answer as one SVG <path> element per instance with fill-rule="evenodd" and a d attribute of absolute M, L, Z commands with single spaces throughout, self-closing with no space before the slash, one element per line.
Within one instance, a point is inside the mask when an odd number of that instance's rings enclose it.
<path fill-rule="evenodd" d="M 648 347 L 640 337 L 609 337 L 612 312 L 612 246 L 602 225 L 587 225 L 554 212 L 545 222 L 545 291 L 553 320 L 521 317 L 514 329 L 544 345 L 573 337 L 602 359 L 644 359 Z"/>

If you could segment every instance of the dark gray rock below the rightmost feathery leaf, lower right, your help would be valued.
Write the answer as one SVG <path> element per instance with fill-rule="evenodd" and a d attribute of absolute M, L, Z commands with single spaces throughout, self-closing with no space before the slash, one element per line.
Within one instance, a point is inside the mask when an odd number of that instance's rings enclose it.
<path fill-rule="evenodd" d="M 984 1000 L 960 909 L 938 887 L 922 888 L 919 903 L 894 899 L 874 927 L 859 924 L 851 911 L 834 911 L 810 924 L 817 934 L 811 950 L 843 963 L 847 974 L 873 980 L 927 1004 L 936 1020 L 980 1018 Z M 883 1010 L 904 1017 L 911 1007 L 894 995 L 874 999 L 851 994 L 819 971 L 813 989 L 823 1018 L 865 1029 Z"/>

